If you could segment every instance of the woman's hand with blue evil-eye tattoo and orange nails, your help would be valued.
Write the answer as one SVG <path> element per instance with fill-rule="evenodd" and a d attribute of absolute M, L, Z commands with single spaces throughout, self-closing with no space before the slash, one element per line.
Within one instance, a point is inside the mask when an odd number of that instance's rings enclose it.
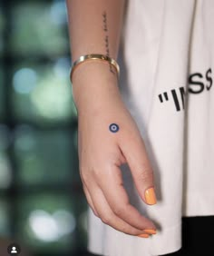
<path fill-rule="evenodd" d="M 94 76 L 86 80 L 80 79 L 75 86 L 82 88 L 77 107 L 78 154 L 87 202 L 92 212 L 115 230 L 131 235 L 154 233 L 150 231 L 156 230 L 154 223 L 131 205 L 122 185 L 120 165 L 128 163 L 141 199 L 156 203 L 151 189 L 153 173 L 141 134 L 115 81 Z M 116 133 L 110 131 L 111 123 L 118 125 Z"/>

